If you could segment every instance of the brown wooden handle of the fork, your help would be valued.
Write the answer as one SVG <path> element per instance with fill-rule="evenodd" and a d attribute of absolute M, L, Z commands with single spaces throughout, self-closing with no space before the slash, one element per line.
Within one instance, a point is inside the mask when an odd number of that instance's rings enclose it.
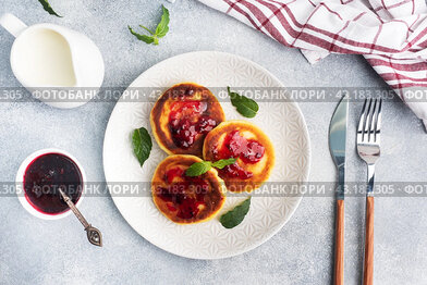
<path fill-rule="evenodd" d="M 363 284 L 374 284 L 374 197 L 366 197 L 365 262 Z"/>

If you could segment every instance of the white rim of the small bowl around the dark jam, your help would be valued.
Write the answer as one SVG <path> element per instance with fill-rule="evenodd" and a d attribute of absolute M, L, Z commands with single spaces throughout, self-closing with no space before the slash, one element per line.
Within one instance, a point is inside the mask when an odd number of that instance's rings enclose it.
<path fill-rule="evenodd" d="M 28 168 L 28 165 L 38 157 L 42 156 L 42 154 L 47 154 L 47 153 L 59 153 L 59 154 L 63 154 L 68 158 L 70 158 L 78 168 L 81 174 L 82 174 L 82 194 L 81 197 L 78 198 L 77 202 L 76 202 L 76 207 L 78 207 L 82 203 L 83 197 L 84 197 L 84 191 L 85 191 L 85 183 L 86 183 L 86 174 L 85 171 L 82 166 L 82 164 L 77 161 L 76 158 L 74 158 L 72 154 L 70 154 L 66 151 L 60 150 L 60 149 L 56 149 L 56 148 L 47 148 L 47 149 L 41 149 L 38 150 L 36 152 L 33 152 L 32 154 L 29 154 L 22 163 L 20 169 L 17 170 L 16 173 L 16 179 L 15 179 L 15 184 L 16 184 L 16 195 L 17 195 L 17 199 L 20 200 L 21 205 L 24 207 L 25 210 L 28 211 L 28 213 L 33 214 L 34 216 L 44 219 L 44 220 L 59 220 L 62 218 L 68 216 L 71 213 L 71 210 L 68 209 L 64 212 L 58 213 L 58 214 L 50 214 L 50 213 L 45 213 L 41 212 L 39 210 L 37 210 L 36 208 L 34 208 L 33 205 L 29 203 L 28 198 L 25 195 L 25 189 L 24 189 L 24 175 L 25 175 L 25 171 Z"/>

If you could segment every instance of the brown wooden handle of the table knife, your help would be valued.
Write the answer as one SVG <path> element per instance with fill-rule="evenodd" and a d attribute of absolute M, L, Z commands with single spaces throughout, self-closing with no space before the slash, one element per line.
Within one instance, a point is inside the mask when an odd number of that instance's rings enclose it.
<path fill-rule="evenodd" d="M 335 285 L 344 284 L 344 200 L 337 200 L 335 221 L 335 265 L 333 280 Z"/>

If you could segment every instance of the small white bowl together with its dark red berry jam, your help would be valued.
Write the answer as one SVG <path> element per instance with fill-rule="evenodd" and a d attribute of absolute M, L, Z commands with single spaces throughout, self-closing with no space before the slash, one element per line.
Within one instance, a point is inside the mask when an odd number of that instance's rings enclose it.
<path fill-rule="evenodd" d="M 78 207 L 86 181 L 82 165 L 70 153 L 42 149 L 32 153 L 16 174 L 16 194 L 21 205 L 33 215 L 58 220 L 70 214 L 59 188 Z"/>

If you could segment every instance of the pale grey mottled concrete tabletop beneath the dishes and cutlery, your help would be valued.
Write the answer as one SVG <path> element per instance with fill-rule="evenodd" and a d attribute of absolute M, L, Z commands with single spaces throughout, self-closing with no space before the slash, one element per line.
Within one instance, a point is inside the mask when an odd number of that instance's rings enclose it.
<path fill-rule="evenodd" d="M 195 0 L 174 4 L 151 1 L 59 1 L 58 18 L 36 0 L 3 0 L 27 24 L 58 23 L 88 35 L 106 62 L 103 86 L 127 86 L 149 66 L 195 50 L 219 50 L 253 60 L 288 86 L 370 86 L 383 82 L 358 55 L 330 55 L 310 66 L 303 55 Z M 158 47 L 135 40 L 126 25 L 155 24 L 159 8 L 170 9 L 170 33 Z M 13 38 L 0 28 L 0 87 L 17 87 L 9 63 Z M 58 110 L 36 100 L 0 103 L 0 181 L 13 182 L 30 152 L 58 147 L 83 163 L 89 181 L 103 181 L 102 140 L 114 102 Z M 313 148 L 310 181 L 334 181 L 327 132 L 335 107 L 300 103 Z M 365 179 L 354 150 L 361 104 L 351 107 L 349 173 Z M 420 122 L 399 100 L 385 103 L 382 157 L 377 179 L 425 182 L 427 136 Z M 239 257 L 200 261 L 167 253 L 150 245 L 123 220 L 110 197 L 86 198 L 82 211 L 105 235 L 105 247 L 85 239 L 73 216 L 49 222 L 29 215 L 16 197 L 0 198 L 0 284 L 330 284 L 332 278 L 333 199 L 305 197 L 291 221 L 269 241 Z M 375 283 L 427 283 L 426 199 L 377 198 Z M 364 199 L 346 200 L 345 284 L 359 284 Z"/>

